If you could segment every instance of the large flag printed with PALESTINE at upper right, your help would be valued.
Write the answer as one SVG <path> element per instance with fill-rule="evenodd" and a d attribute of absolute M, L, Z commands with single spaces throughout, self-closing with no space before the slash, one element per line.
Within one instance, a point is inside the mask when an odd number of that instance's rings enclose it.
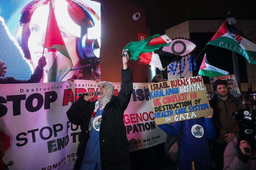
<path fill-rule="evenodd" d="M 256 44 L 226 21 L 208 44 L 234 51 L 244 56 L 250 64 L 256 64 Z"/>

